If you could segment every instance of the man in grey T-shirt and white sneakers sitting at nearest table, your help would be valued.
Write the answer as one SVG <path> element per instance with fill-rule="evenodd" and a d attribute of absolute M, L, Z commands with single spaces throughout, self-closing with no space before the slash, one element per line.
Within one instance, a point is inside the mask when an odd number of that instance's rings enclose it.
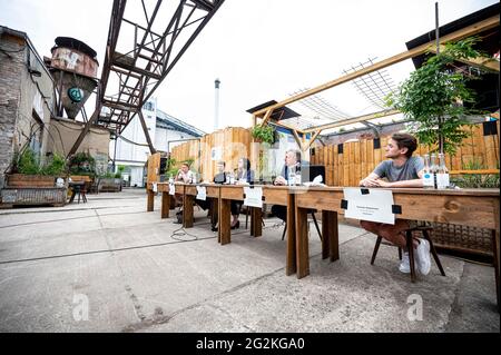
<path fill-rule="evenodd" d="M 423 187 L 424 164 L 420 157 L 412 154 L 418 148 L 416 139 L 407 134 L 394 134 L 389 139 L 385 148 L 385 157 L 391 160 L 382 161 L 373 172 L 360 181 L 365 187 Z M 387 181 L 383 180 L 386 178 Z M 402 273 L 411 273 L 409 252 L 406 252 L 404 230 L 410 228 L 413 221 L 396 219 L 394 225 L 361 220 L 361 226 L 404 250 L 399 269 Z M 430 273 L 430 244 L 422 238 L 413 239 L 418 270 L 422 275 Z"/>

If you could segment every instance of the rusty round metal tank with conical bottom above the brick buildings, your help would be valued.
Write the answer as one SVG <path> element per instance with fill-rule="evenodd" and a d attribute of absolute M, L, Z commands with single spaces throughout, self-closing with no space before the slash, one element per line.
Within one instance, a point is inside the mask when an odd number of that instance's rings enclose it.
<path fill-rule="evenodd" d="M 96 88 L 99 63 L 96 51 L 70 37 L 56 38 L 50 71 L 61 95 L 68 118 L 75 119 Z"/>

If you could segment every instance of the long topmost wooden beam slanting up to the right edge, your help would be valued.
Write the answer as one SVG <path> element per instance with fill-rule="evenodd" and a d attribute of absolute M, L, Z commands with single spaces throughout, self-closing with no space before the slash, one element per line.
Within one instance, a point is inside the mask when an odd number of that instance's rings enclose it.
<path fill-rule="evenodd" d="M 444 37 L 442 37 L 440 39 L 440 42 L 441 43 L 445 43 L 445 42 L 449 42 L 449 41 L 460 40 L 462 38 L 474 36 L 477 33 L 480 33 L 480 32 L 482 32 L 484 30 L 489 30 L 489 29 L 498 27 L 498 26 L 499 26 L 499 16 L 493 16 L 493 17 L 491 17 L 489 19 L 485 19 L 483 21 L 477 22 L 477 23 L 468 26 L 468 27 L 465 27 L 465 28 L 463 28 L 461 30 L 458 30 L 455 32 L 446 34 L 446 36 L 444 36 Z M 410 59 L 410 58 L 413 58 L 413 57 L 421 56 L 421 55 L 425 53 L 430 49 L 431 46 L 435 46 L 435 43 L 434 42 L 424 43 L 424 45 L 421 45 L 421 46 L 419 46 L 416 48 L 407 50 L 405 52 L 401 52 L 401 53 L 399 53 L 396 56 L 386 58 L 386 59 L 384 59 L 382 61 L 379 61 L 379 62 L 376 62 L 376 63 L 374 63 L 374 65 L 372 65 L 370 67 L 363 68 L 361 70 L 353 71 L 353 72 L 351 72 L 348 75 L 345 75 L 345 76 L 343 76 L 341 78 L 337 78 L 335 80 L 328 81 L 328 82 L 326 82 L 324 85 L 321 85 L 321 86 L 318 86 L 316 88 L 310 89 L 310 90 L 304 91 L 302 93 L 298 93 L 296 96 L 289 97 L 288 99 L 285 99 L 285 100 L 283 100 L 281 102 L 277 102 L 277 103 L 274 103 L 274 105 L 268 106 L 266 108 L 263 108 L 263 109 L 254 112 L 254 115 L 256 115 L 256 116 L 262 115 L 266 110 L 272 110 L 273 111 L 274 109 L 281 108 L 281 107 L 283 107 L 285 105 L 288 105 L 288 103 L 298 101 L 301 99 L 307 98 L 308 96 L 312 96 L 312 95 L 322 92 L 324 90 L 331 89 L 331 88 L 336 87 L 336 86 L 338 86 L 341 83 L 344 83 L 344 82 L 351 81 L 353 79 L 360 78 L 362 76 L 365 76 L 365 75 L 367 75 L 370 72 L 373 72 L 373 71 L 376 71 L 376 70 L 390 67 L 390 66 L 392 66 L 394 63 L 401 62 L 403 60 L 406 60 L 406 59 Z"/>

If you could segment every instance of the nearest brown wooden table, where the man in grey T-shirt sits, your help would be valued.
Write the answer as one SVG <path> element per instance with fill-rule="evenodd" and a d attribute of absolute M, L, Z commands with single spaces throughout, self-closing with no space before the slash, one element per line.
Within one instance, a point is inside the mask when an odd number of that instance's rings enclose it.
<path fill-rule="evenodd" d="M 301 189 L 301 188 L 298 188 Z M 395 205 L 402 214 L 396 218 L 449 223 L 492 230 L 494 254 L 495 292 L 500 306 L 500 220 L 499 189 L 429 190 L 422 188 L 392 188 Z M 296 258 L 297 277 L 310 274 L 307 208 L 322 209 L 322 234 L 328 245 L 331 260 L 338 259 L 337 214 L 344 214 L 341 200 L 342 187 L 313 187 L 307 193 L 295 194 L 296 206 Z M 327 240 L 326 240 L 327 239 Z M 324 252 L 323 252 L 324 254 Z"/>

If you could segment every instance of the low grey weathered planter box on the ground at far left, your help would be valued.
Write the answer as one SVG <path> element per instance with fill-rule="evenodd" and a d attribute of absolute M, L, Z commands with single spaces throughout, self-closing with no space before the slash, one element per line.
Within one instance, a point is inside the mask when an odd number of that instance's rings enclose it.
<path fill-rule="evenodd" d="M 1 190 L 4 205 L 51 205 L 66 204 L 66 187 L 7 187 Z"/>

